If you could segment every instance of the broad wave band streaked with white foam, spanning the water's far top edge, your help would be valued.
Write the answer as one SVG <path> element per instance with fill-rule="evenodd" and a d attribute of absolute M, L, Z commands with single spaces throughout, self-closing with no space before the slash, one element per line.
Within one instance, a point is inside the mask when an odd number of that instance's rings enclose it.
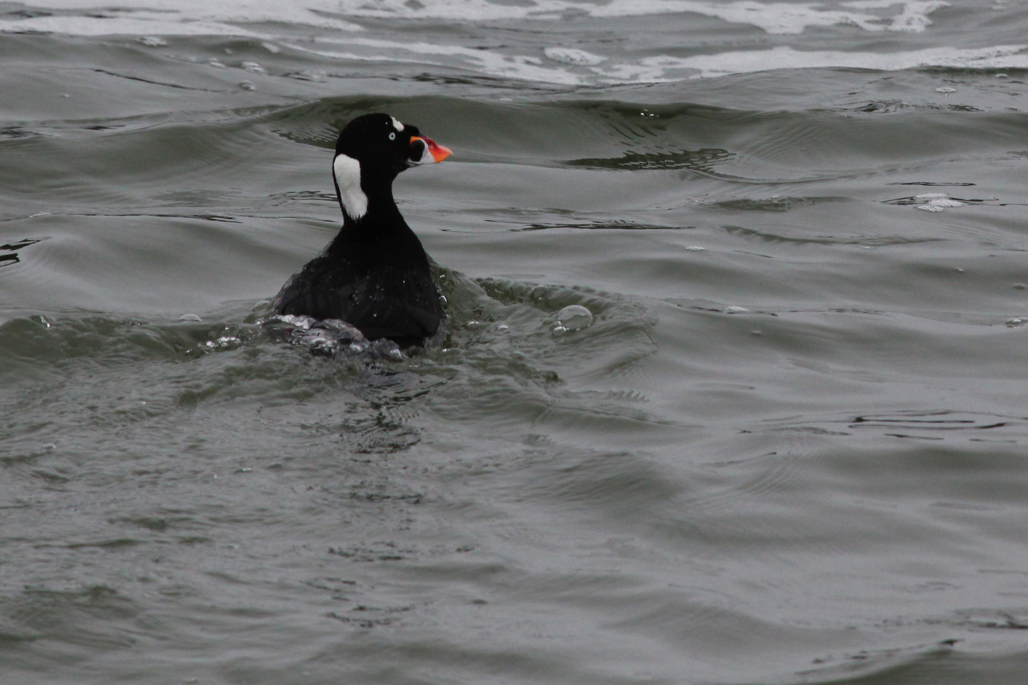
<path fill-rule="evenodd" d="M 322 59 L 330 64 L 378 63 L 396 65 L 400 69 L 419 66 L 433 71 L 453 69 L 489 77 L 589 86 L 797 68 L 885 71 L 923 67 L 1028 68 L 1028 44 L 1014 44 L 1016 38 L 1007 42 L 998 35 L 992 41 L 998 44 L 978 47 L 939 45 L 941 38 L 937 37 L 935 44 L 928 47 L 876 51 L 861 49 L 862 44 L 852 41 L 841 44 L 837 41 L 831 45 L 841 49 L 807 49 L 824 46 L 810 34 L 802 41 L 793 39 L 787 45 L 768 47 L 766 41 L 755 43 L 747 38 L 742 44 L 751 44 L 757 49 L 713 51 L 718 48 L 693 47 L 683 54 L 682 48 L 664 42 L 626 53 L 618 44 L 576 40 L 576 29 L 566 22 L 560 26 L 560 33 L 568 39 L 563 44 L 552 30 L 538 31 L 541 23 L 554 24 L 558 20 L 576 17 L 612 24 L 626 17 L 655 16 L 657 18 L 650 21 L 663 23 L 665 20 L 659 18 L 663 15 L 700 14 L 778 35 L 832 27 L 842 27 L 840 31 L 849 34 L 852 34 L 849 31 L 852 27 L 873 33 L 921 33 L 931 24 L 929 15 L 946 5 L 940 0 L 896 3 L 890 0 L 841 3 L 612 0 L 605 4 L 572 0 L 524 0 L 510 4 L 489 0 L 310 0 L 302 5 L 267 0 L 232 0 L 217 4 L 200 0 L 135 0 L 130 6 L 98 11 L 95 0 L 38 0 L 32 9 L 3 15 L 0 33 L 135 35 L 141 36 L 140 42 L 149 47 L 167 44 L 157 36 L 247 37 L 264 41 L 271 53 L 285 49 L 294 55 Z M 361 26 L 358 23 L 361 20 L 368 26 Z M 452 31 L 439 31 L 438 27 L 429 26 L 429 22 L 461 25 L 519 22 L 519 26 L 505 25 L 504 35 L 510 29 L 526 30 L 517 31 L 520 36 L 517 41 L 505 38 L 498 44 L 486 39 L 485 44 L 479 44 L 482 41 L 456 38 Z M 316 31 L 311 32 L 311 28 Z M 659 27 L 652 29 L 660 33 Z M 412 30 L 416 30 L 413 39 Z M 489 31 L 488 27 L 482 30 Z M 688 28 L 684 39 L 693 33 L 698 37 L 706 29 L 701 27 Z M 740 37 L 742 35 L 740 33 Z M 471 40 L 475 42 L 468 42 Z M 959 37 L 955 35 L 947 35 L 942 40 L 959 44 Z M 581 47 L 571 47 L 567 42 Z M 725 43 L 704 41 L 704 44 Z M 734 45 L 738 46 L 739 41 Z M 707 52 L 696 53 L 700 50 Z"/>

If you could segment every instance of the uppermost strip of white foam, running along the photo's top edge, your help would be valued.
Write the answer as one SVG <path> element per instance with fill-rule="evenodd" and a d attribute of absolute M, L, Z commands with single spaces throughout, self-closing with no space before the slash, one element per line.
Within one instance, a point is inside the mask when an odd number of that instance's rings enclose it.
<path fill-rule="evenodd" d="M 360 26 L 332 15 L 432 18 L 455 22 L 499 20 L 551 21 L 566 14 L 594 17 L 680 14 L 713 16 L 756 26 L 768 33 L 797 34 L 808 27 L 857 26 L 865 31 L 924 31 L 928 14 L 949 3 L 942 0 L 853 0 L 845 9 L 818 2 L 757 0 L 528 0 L 498 4 L 490 0 L 127 0 L 104 7 L 99 0 L 32 0 L 31 6 L 58 10 L 103 8 L 103 16 L 35 16 L 0 21 L 0 31 L 52 31 L 72 35 L 143 33 L 158 35 L 252 36 L 240 24 L 280 22 L 359 31 Z"/>

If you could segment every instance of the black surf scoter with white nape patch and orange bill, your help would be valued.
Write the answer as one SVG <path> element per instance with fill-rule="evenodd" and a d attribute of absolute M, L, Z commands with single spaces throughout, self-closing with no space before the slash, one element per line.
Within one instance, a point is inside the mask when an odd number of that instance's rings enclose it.
<path fill-rule="evenodd" d="M 335 144 L 332 178 L 342 228 L 282 287 L 277 314 L 342 319 L 368 340 L 424 345 L 443 320 L 429 257 L 393 199 L 393 180 L 450 150 L 388 114 L 347 123 Z"/>

